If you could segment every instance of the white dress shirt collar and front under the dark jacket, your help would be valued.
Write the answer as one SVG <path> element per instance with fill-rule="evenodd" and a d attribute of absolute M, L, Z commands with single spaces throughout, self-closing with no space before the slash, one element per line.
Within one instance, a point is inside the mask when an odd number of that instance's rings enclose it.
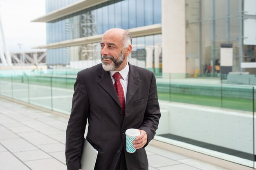
<path fill-rule="evenodd" d="M 112 76 L 116 73 L 116 71 L 110 71 L 110 76 L 113 82 L 113 85 L 115 84 L 115 78 L 113 78 Z M 119 74 L 121 74 L 121 79 L 120 79 L 120 83 L 124 89 L 124 102 L 126 102 L 126 92 L 127 92 L 127 87 L 128 87 L 128 78 L 129 78 L 129 65 L 128 62 L 126 63 L 126 66 L 123 70 L 119 71 Z"/>

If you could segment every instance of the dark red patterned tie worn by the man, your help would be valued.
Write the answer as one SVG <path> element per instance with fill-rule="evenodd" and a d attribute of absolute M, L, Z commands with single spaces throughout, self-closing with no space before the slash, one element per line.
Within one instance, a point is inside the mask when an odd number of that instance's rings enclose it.
<path fill-rule="evenodd" d="M 114 87 L 117 91 L 117 95 L 119 98 L 119 101 L 121 103 L 122 111 L 123 111 L 123 117 L 124 117 L 124 111 L 125 111 L 125 102 L 124 102 L 124 89 L 120 83 L 121 74 L 119 72 L 116 72 L 113 76 L 115 78 L 115 84 Z"/>

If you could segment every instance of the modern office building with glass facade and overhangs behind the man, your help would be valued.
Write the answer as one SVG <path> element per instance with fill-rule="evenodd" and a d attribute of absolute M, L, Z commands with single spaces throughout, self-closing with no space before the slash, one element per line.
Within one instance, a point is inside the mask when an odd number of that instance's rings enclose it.
<path fill-rule="evenodd" d="M 253 0 L 98 0 L 48 1 L 48 65 L 86 68 L 100 62 L 99 42 L 109 28 L 128 29 L 132 64 L 155 73 L 200 73 L 220 60 L 220 44 L 232 44 L 232 71 L 255 62 Z M 252 66 L 254 67 L 254 66 Z"/>

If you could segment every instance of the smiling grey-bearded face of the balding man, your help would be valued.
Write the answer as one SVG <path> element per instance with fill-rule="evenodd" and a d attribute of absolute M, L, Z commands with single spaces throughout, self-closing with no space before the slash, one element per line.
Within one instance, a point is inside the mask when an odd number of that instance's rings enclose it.
<path fill-rule="evenodd" d="M 125 68 L 131 45 L 124 49 L 124 30 L 113 28 L 104 33 L 101 41 L 101 62 L 106 71 L 120 71 Z"/>

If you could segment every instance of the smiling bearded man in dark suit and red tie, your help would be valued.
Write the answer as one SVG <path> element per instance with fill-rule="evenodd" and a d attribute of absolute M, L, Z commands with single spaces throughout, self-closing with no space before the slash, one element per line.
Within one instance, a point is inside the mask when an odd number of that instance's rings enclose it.
<path fill-rule="evenodd" d="M 94 170 L 148 170 L 144 148 L 155 135 L 160 110 L 154 74 L 127 62 L 131 42 L 130 33 L 123 29 L 106 31 L 102 64 L 77 74 L 66 135 L 68 170 L 81 168 L 87 119 L 86 139 L 98 150 Z M 130 128 L 141 133 L 134 141 L 135 153 L 126 151 L 125 131 Z"/>

